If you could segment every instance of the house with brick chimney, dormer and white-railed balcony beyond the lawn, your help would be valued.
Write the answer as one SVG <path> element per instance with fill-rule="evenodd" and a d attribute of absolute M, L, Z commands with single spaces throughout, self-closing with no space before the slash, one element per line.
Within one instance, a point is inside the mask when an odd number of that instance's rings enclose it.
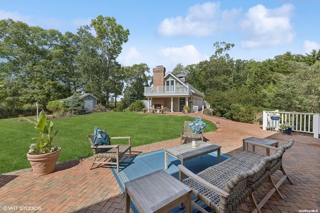
<path fill-rule="evenodd" d="M 147 97 L 146 108 L 165 108 L 182 111 L 188 105 L 191 111 L 200 110 L 204 104 L 204 94 L 187 83 L 185 74 L 165 74 L 165 67 L 157 66 L 153 71 L 153 85 L 144 87 Z"/>

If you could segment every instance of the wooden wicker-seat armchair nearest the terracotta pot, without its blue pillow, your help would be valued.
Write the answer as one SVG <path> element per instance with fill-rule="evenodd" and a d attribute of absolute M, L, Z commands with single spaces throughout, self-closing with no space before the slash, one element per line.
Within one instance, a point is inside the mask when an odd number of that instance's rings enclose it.
<path fill-rule="evenodd" d="M 103 130 L 104 131 L 104 130 Z M 104 131 L 105 132 L 105 131 Z M 87 135 L 91 148 L 93 149 L 93 160 L 89 167 L 92 168 L 94 163 L 102 163 L 102 164 L 114 164 L 116 165 L 116 170 L 119 172 L 119 160 L 123 157 L 123 155 L 128 152 L 129 157 L 131 157 L 131 137 L 130 136 L 122 136 L 122 137 L 110 137 L 110 145 L 99 145 L 93 146 L 94 134 Z M 128 144 L 111 144 L 112 139 L 128 139 Z M 115 159 L 114 161 L 99 161 L 96 158 L 111 158 Z"/>

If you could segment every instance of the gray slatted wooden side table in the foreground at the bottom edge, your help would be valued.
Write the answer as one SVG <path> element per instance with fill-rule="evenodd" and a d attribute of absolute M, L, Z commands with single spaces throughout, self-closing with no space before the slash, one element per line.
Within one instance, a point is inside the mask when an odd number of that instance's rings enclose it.
<path fill-rule="evenodd" d="M 185 202 L 185 212 L 191 212 L 191 189 L 165 171 L 127 181 L 125 186 L 125 212 L 129 212 L 130 199 L 140 212 L 167 212 Z"/>

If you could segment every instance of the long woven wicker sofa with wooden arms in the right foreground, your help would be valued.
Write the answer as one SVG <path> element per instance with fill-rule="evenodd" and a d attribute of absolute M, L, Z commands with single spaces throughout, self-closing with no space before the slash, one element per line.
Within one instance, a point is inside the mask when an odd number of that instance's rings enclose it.
<path fill-rule="evenodd" d="M 275 191 L 283 198 L 278 186 L 285 178 L 293 183 L 282 167 L 282 155 L 287 148 L 292 146 L 293 142 L 291 139 L 278 148 L 268 146 L 270 149 L 275 149 L 270 156 L 243 151 L 197 174 L 183 165 L 178 165 L 180 179 L 183 177 L 181 175 L 188 176 L 182 182 L 192 189 L 192 194 L 196 196 L 196 199 L 192 200 L 192 204 L 202 212 L 206 212 L 206 210 L 196 203 L 198 200 L 201 200 L 214 212 L 232 212 L 247 197 L 250 198 L 251 204 L 254 206 L 252 212 L 260 212 L 262 205 Z M 282 171 L 283 176 L 277 183 L 274 183 L 271 174 L 277 169 Z M 253 192 L 266 180 L 270 182 L 272 188 L 257 203 Z"/>

